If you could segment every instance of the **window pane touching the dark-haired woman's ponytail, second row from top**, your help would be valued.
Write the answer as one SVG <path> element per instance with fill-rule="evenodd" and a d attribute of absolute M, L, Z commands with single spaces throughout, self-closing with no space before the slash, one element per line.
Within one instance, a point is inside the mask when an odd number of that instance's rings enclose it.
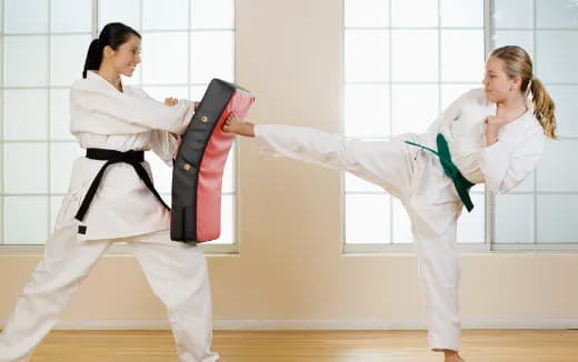
<path fill-rule="evenodd" d="M 69 87 L 82 78 L 90 36 L 56 36 L 50 41 L 50 83 Z"/>

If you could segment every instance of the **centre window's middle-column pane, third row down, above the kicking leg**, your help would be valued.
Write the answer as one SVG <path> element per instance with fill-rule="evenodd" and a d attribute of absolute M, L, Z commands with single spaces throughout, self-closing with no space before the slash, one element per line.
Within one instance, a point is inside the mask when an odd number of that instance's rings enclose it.
<path fill-rule="evenodd" d="M 393 86 L 393 134 L 426 131 L 438 117 L 438 86 L 435 84 Z"/>

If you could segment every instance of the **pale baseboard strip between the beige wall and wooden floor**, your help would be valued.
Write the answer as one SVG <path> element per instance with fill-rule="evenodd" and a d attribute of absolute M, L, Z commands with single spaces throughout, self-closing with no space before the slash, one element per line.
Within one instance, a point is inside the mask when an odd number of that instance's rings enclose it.
<path fill-rule="evenodd" d="M 6 321 L 0 321 L 3 328 Z M 215 330 L 425 330 L 422 320 L 215 320 Z M 464 319 L 464 329 L 578 329 L 578 318 Z M 56 330 L 168 330 L 166 320 L 62 320 Z"/>

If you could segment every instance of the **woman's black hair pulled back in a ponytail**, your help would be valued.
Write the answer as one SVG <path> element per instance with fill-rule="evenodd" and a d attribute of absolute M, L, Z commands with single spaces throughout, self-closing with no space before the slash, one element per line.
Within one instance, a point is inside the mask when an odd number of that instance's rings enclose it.
<path fill-rule="evenodd" d="M 104 26 L 100 32 L 100 37 L 90 42 L 82 78 L 87 78 L 87 71 L 98 70 L 100 68 L 104 47 L 109 46 L 113 50 L 118 50 L 131 36 L 142 38 L 137 30 L 121 22 L 110 22 Z"/>

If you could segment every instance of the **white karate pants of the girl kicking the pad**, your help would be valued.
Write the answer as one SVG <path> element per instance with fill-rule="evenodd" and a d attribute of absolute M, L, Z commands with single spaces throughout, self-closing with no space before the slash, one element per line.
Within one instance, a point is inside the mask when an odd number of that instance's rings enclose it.
<path fill-rule="evenodd" d="M 458 350 L 458 284 L 461 261 L 456 249 L 462 203 L 439 159 L 409 145 L 436 149 L 434 135 L 402 134 L 390 141 L 359 141 L 315 129 L 258 124 L 260 150 L 351 172 L 381 185 L 406 208 L 418 255 L 418 269 L 432 350 Z"/>

